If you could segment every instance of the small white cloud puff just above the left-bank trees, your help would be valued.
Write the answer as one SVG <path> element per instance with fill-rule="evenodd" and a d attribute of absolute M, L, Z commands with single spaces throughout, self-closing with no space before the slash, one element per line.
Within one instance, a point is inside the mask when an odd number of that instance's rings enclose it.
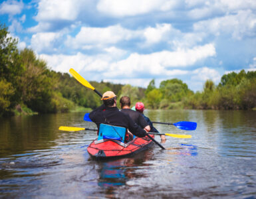
<path fill-rule="evenodd" d="M 62 33 L 37 33 L 31 38 L 31 47 L 37 52 L 56 51 L 55 44 L 61 42 Z"/>

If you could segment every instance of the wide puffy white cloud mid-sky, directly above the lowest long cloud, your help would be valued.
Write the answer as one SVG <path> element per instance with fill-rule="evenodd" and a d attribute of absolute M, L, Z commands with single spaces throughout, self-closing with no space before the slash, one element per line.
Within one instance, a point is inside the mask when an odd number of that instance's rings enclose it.
<path fill-rule="evenodd" d="M 140 48 L 148 48 L 160 42 L 166 42 L 173 49 L 192 48 L 205 38 L 205 33 L 182 33 L 171 24 L 156 24 L 156 27 L 130 30 L 114 25 L 104 28 L 82 27 L 76 36 L 67 36 L 68 48 L 88 50 L 105 48 L 120 42 L 140 40 Z M 132 43 L 131 43 L 132 44 Z M 135 44 L 138 45 L 138 42 Z"/>

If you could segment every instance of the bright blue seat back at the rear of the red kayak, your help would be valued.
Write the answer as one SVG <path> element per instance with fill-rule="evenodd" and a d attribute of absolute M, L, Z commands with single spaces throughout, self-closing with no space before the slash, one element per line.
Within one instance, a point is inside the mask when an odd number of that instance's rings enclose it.
<path fill-rule="evenodd" d="M 100 129 L 98 131 L 98 140 L 114 139 L 124 143 L 125 134 L 126 134 L 126 128 L 124 127 L 117 127 L 117 126 L 101 123 Z"/>

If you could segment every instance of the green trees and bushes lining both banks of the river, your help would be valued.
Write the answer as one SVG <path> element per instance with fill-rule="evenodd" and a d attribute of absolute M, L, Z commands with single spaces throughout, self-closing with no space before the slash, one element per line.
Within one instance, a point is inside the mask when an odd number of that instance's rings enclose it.
<path fill-rule="evenodd" d="M 0 24 L 0 117 L 88 111 L 101 104 L 94 92 L 67 73 L 49 69 L 35 52 L 18 50 L 18 41 Z M 202 92 L 193 92 L 182 80 L 155 80 L 147 88 L 129 84 L 90 82 L 99 92 L 112 90 L 129 96 L 132 105 L 143 101 L 148 109 L 256 109 L 256 71 L 231 72 L 215 85 L 207 80 Z M 118 99 L 119 100 L 119 99 Z"/>

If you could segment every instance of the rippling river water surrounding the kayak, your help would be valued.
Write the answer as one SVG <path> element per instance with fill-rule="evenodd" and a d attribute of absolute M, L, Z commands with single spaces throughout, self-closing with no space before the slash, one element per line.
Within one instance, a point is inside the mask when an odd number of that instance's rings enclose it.
<path fill-rule="evenodd" d="M 195 121 L 195 131 L 155 125 L 154 145 L 126 159 L 94 161 L 84 113 L 0 120 L 0 198 L 256 198 L 256 111 L 145 112 L 152 121 Z M 160 142 L 160 137 L 156 137 Z"/>

